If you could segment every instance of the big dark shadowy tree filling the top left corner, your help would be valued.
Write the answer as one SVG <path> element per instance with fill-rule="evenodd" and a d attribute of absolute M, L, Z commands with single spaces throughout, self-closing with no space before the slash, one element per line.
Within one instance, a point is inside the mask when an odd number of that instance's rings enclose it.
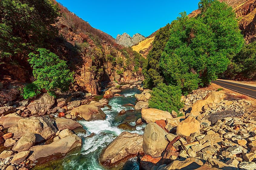
<path fill-rule="evenodd" d="M 59 15 L 52 0 L 1 0 L 0 58 L 26 61 L 30 51 L 58 33 L 53 24 Z"/>

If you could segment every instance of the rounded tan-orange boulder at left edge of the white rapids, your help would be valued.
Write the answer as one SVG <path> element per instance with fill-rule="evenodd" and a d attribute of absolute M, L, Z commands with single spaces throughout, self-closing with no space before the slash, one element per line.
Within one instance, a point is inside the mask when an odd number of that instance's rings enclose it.
<path fill-rule="evenodd" d="M 77 116 L 78 114 L 87 121 L 91 120 L 105 120 L 106 114 L 98 107 L 92 104 L 85 104 L 71 110 L 70 114 L 72 116 Z"/>

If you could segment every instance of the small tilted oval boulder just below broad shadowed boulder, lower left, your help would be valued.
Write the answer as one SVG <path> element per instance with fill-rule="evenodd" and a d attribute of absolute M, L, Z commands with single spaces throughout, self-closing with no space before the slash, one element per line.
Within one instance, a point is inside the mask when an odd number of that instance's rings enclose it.
<path fill-rule="evenodd" d="M 12 147 L 14 151 L 27 151 L 31 146 L 35 145 L 35 134 L 34 133 L 27 133 L 22 136 L 17 143 Z"/>

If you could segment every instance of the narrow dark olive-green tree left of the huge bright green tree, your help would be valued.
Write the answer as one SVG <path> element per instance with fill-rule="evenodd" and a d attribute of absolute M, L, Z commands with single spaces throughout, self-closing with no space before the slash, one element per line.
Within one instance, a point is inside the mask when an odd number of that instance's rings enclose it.
<path fill-rule="evenodd" d="M 143 67 L 143 75 L 145 80 L 143 82 L 145 88 L 155 87 L 158 83 L 164 82 L 162 72 L 159 66 L 160 56 L 165 48 L 170 36 L 170 24 L 162 27 L 155 34 L 152 49 L 147 55 L 145 66 Z"/>

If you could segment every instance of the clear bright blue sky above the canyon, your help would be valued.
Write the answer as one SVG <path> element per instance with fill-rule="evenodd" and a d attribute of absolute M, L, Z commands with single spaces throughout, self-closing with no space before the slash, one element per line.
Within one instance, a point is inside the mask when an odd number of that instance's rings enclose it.
<path fill-rule="evenodd" d="M 126 32 L 149 36 L 160 27 L 171 23 L 180 12 L 191 13 L 199 0 L 57 0 L 92 27 L 112 37 Z"/>

